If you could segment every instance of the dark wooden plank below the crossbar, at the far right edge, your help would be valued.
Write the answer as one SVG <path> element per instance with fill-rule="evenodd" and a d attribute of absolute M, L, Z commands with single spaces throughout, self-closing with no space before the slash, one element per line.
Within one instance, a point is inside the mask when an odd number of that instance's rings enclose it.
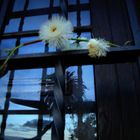
<path fill-rule="evenodd" d="M 123 139 L 125 140 L 140 139 L 140 106 L 136 94 L 134 74 L 136 75 L 135 71 L 137 69 L 133 69 L 134 64 L 126 63 L 117 65 L 118 94 L 121 104 Z"/>

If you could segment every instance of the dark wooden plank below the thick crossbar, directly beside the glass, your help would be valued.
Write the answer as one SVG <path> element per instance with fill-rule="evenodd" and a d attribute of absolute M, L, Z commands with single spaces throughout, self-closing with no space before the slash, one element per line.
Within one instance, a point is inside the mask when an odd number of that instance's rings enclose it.
<path fill-rule="evenodd" d="M 114 65 L 95 67 L 99 140 L 122 139 L 122 120 Z"/>

